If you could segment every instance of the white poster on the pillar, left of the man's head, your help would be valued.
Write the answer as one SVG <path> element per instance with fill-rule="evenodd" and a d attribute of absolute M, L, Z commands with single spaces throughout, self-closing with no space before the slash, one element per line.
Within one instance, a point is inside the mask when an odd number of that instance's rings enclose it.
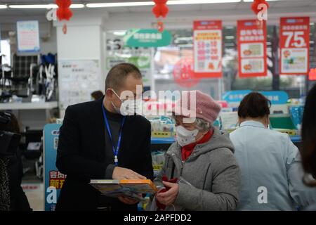
<path fill-rule="evenodd" d="M 58 73 L 60 110 L 91 101 L 91 93 L 100 89 L 98 60 L 58 60 Z"/>

